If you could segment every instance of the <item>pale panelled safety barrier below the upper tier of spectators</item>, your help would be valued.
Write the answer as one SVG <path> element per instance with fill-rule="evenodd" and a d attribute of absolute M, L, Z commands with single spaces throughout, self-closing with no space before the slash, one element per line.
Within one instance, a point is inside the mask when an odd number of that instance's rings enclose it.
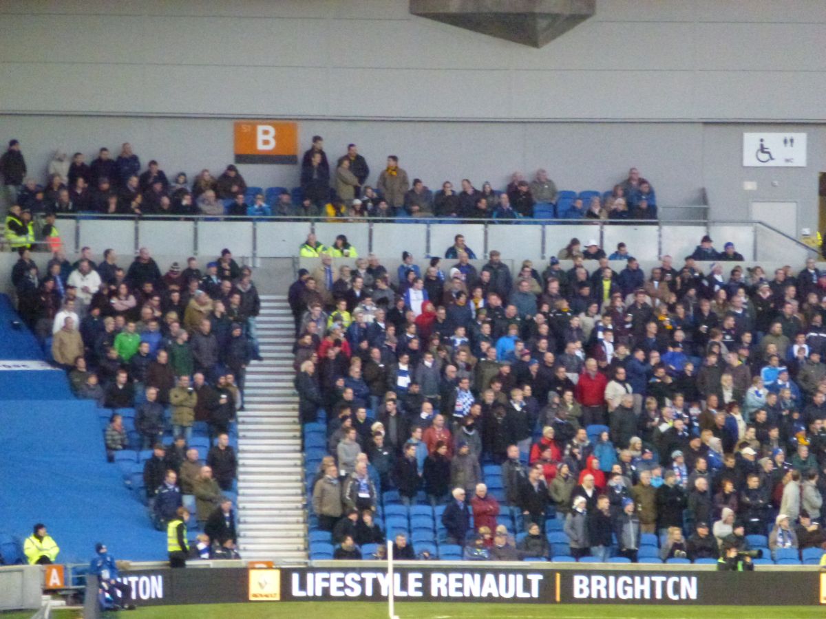
<path fill-rule="evenodd" d="M 796 264 L 818 252 L 763 222 L 734 220 L 456 220 L 413 219 L 349 220 L 308 217 L 214 217 L 123 215 L 62 215 L 57 222 L 64 246 L 77 253 L 85 246 L 100 252 L 116 248 L 120 253 L 141 247 L 161 255 L 213 257 L 222 248 L 257 258 L 292 258 L 306 235 L 314 232 L 330 245 L 344 234 L 359 255 L 401 256 L 403 250 L 418 256 L 444 256 L 456 234 L 463 234 L 478 258 L 493 249 L 503 256 L 518 255 L 544 261 L 558 254 L 572 238 L 585 246 L 596 242 L 610 255 L 618 243 L 640 260 L 656 260 L 670 254 L 676 262 L 694 251 L 705 234 L 722 250 L 734 243 L 747 261 L 771 260 Z"/>

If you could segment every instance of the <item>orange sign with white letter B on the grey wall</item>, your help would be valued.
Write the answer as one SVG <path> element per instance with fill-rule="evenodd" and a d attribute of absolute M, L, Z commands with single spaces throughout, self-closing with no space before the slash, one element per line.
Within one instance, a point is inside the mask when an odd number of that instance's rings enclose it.
<path fill-rule="evenodd" d="M 235 163 L 298 163 L 298 124 L 236 121 Z"/>

